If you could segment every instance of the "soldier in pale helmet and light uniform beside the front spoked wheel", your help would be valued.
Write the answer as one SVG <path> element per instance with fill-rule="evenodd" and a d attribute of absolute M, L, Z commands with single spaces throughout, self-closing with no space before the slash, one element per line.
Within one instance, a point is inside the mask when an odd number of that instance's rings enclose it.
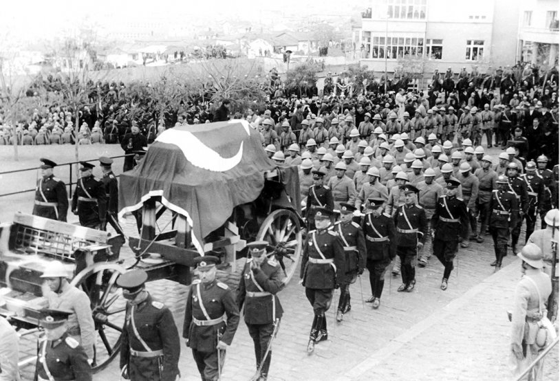
<path fill-rule="evenodd" d="M 94 360 L 95 323 L 87 294 L 68 283 L 73 270 L 62 262 L 51 261 L 41 274 L 45 281 L 41 288 L 49 308 L 69 312 L 65 320 L 67 334 L 81 345 L 91 362 Z"/>

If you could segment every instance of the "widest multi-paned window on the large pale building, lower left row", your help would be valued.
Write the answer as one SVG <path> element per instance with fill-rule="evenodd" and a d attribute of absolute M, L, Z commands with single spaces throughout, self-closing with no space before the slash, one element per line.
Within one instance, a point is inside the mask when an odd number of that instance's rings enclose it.
<path fill-rule="evenodd" d="M 364 34 L 362 43 L 364 45 L 371 41 L 371 55 L 368 58 L 397 59 L 407 54 L 415 56 L 422 55 L 424 39 L 421 35 L 391 35 L 387 36 L 387 48 L 385 46 L 385 34 Z M 441 40 L 435 40 L 441 41 Z"/>

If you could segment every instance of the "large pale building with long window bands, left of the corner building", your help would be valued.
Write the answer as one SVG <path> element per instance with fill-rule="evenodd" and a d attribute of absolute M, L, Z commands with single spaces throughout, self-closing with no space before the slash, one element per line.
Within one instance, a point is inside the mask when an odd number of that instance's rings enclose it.
<path fill-rule="evenodd" d="M 514 65 L 518 1 L 371 0 L 361 28 L 353 28 L 360 63 L 392 74 L 414 61 L 434 69 L 480 72 Z"/>

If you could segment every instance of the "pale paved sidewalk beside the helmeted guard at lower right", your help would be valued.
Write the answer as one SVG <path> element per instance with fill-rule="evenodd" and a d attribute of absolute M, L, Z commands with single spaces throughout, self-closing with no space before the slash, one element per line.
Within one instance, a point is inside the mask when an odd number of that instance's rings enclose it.
<path fill-rule="evenodd" d="M 337 380 L 511 380 L 506 310 L 519 270 L 520 261 L 511 263 Z M 552 352 L 545 380 L 558 380 L 558 347 Z"/>

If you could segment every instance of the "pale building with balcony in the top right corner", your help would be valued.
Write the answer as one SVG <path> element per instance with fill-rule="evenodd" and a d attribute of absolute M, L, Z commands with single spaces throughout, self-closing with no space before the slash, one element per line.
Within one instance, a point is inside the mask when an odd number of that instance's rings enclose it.
<path fill-rule="evenodd" d="M 547 69 L 558 65 L 558 1 L 524 0 L 519 10 L 517 59 Z"/>

